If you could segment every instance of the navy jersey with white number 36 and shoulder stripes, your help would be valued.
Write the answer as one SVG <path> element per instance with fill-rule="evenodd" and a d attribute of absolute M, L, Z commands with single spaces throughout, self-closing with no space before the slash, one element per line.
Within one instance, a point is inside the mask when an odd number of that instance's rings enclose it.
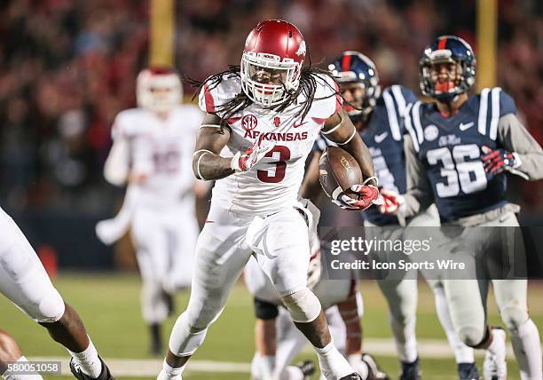
<path fill-rule="evenodd" d="M 434 104 L 408 109 L 405 127 L 426 170 L 442 221 L 493 210 L 506 201 L 507 178 L 484 171 L 481 147 L 499 148 L 500 117 L 515 114 L 514 100 L 500 88 L 484 89 L 444 117 Z"/>

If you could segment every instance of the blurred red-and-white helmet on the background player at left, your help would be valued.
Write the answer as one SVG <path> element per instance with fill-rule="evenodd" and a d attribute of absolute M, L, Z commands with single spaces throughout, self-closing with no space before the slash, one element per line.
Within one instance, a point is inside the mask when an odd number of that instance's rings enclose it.
<path fill-rule="evenodd" d="M 179 75 L 171 68 L 149 67 L 136 82 L 138 106 L 152 112 L 169 112 L 183 97 Z"/>

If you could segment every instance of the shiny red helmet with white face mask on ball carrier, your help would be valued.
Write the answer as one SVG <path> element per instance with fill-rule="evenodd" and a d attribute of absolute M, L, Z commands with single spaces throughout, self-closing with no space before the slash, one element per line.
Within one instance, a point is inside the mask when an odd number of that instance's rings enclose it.
<path fill-rule="evenodd" d="M 305 41 L 290 22 L 267 20 L 251 30 L 241 56 L 241 88 L 264 107 L 284 101 L 300 84 Z"/>

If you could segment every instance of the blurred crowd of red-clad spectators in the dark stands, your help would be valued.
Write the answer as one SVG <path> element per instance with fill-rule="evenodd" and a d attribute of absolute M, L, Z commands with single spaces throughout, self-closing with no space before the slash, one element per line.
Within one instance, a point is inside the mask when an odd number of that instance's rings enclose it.
<path fill-rule="evenodd" d="M 499 1 L 498 84 L 543 143 L 543 5 Z M 311 64 L 343 50 L 374 59 L 382 84 L 415 92 L 424 45 L 453 34 L 476 46 L 476 1 L 177 1 L 177 68 L 194 79 L 239 64 L 258 20 L 295 23 Z M 0 2 L 0 203 L 17 210 L 100 212 L 112 190 L 101 176 L 114 115 L 135 105 L 146 66 L 148 0 Z M 185 87 L 185 94 L 193 89 Z M 543 211 L 539 184 L 523 202 Z"/>

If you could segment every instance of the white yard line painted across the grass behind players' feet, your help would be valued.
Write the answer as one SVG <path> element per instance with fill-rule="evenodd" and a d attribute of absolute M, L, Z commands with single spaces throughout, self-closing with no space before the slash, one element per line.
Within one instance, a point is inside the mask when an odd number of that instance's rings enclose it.
<path fill-rule="evenodd" d="M 390 338 L 365 339 L 364 350 L 377 356 L 396 356 L 394 342 Z M 303 352 L 312 352 L 306 346 Z M 423 339 L 419 341 L 419 354 L 422 358 L 453 360 L 453 351 L 445 340 Z M 476 355 L 483 355 L 484 351 L 476 350 Z M 511 344 L 508 344 L 508 359 L 514 359 Z M 31 357 L 29 360 L 51 360 L 62 362 L 62 375 L 72 376 L 68 366 L 67 357 Z M 110 359 L 106 358 L 107 365 L 116 376 L 156 376 L 162 368 L 161 359 Z M 186 373 L 215 372 L 215 373 L 249 373 L 250 363 L 215 360 L 191 360 Z"/>

